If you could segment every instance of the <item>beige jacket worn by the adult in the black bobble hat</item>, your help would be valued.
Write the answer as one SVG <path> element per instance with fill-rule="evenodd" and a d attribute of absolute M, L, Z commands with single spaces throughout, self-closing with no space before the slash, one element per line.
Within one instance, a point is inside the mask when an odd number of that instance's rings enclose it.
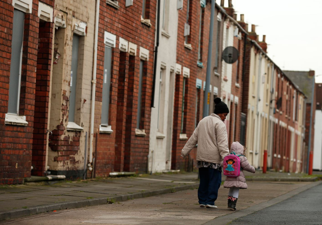
<path fill-rule="evenodd" d="M 185 158 L 197 143 L 197 161 L 221 164 L 229 155 L 226 125 L 218 115 L 211 113 L 200 120 L 182 149 L 181 157 Z"/>

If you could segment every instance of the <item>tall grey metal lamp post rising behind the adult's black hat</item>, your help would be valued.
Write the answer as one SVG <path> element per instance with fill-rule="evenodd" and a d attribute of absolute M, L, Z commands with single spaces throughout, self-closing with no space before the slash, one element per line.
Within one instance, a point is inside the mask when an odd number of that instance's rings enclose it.
<path fill-rule="evenodd" d="M 209 101 L 210 101 L 210 77 L 211 77 L 211 55 L 212 55 L 212 36 L 213 36 L 213 21 L 215 17 L 215 0 L 211 0 L 211 15 L 210 15 L 210 32 L 209 32 L 209 44 L 208 44 L 208 59 L 207 59 L 207 77 L 205 95 L 203 98 L 203 113 L 202 117 L 209 116 Z"/>

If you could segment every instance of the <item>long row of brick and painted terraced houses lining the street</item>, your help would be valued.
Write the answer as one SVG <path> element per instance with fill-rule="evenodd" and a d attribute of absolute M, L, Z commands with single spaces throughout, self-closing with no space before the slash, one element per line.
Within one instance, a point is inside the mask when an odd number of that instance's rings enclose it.
<path fill-rule="evenodd" d="M 252 165 L 303 171 L 305 95 L 232 1 L 214 7 L 209 46 L 209 0 L 0 0 L 0 184 L 192 171 L 205 97 Z"/>

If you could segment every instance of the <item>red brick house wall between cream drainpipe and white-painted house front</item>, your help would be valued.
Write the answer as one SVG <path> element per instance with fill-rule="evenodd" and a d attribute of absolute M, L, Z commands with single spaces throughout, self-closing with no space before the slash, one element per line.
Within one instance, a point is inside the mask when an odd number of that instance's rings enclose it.
<path fill-rule="evenodd" d="M 119 2 L 120 8 L 115 9 L 101 1 L 95 112 L 96 176 L 108 176 L 114 171 L 146 172 L 147 170 L 156 3 L 146 1 L 145 19 L 149 19 L 151 23 L 151 26 L 147 26 L 141 23 L 140 19 L 142 2 L 134 1 L 130 7 L 125 7 L 125 2 Z M 128 21 L 132 23 L 129 24 Z M 99 133 L 105 31 L 116 35 L 116 47 L 112 50 L 109 105 L 109 125 L 112 126 L 112 134 Z M 120 37 L 137 45 L 135 56 L 120 51 Z M 140 47 L 149 50 L 149 60 L 144 61 L 140 121 L 140 128 L 145 130 L 146 136 L 135 135 Z"/>

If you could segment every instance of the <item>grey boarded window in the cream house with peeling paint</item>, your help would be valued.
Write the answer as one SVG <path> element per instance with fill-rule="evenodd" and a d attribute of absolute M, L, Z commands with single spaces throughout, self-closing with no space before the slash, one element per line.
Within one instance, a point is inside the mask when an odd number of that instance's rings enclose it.
<path fill-rule="evenodd" d="M 74 34 L 72 37 L 72 55 L 71 55 L 71 71 L 70 71 L 70 96 L 69 96 L 69 116 L 68 116 L 69 122 L 74 122 L 74 116 L 75 116 L 78 45 L 79 45 L 79 36 Z"/>

